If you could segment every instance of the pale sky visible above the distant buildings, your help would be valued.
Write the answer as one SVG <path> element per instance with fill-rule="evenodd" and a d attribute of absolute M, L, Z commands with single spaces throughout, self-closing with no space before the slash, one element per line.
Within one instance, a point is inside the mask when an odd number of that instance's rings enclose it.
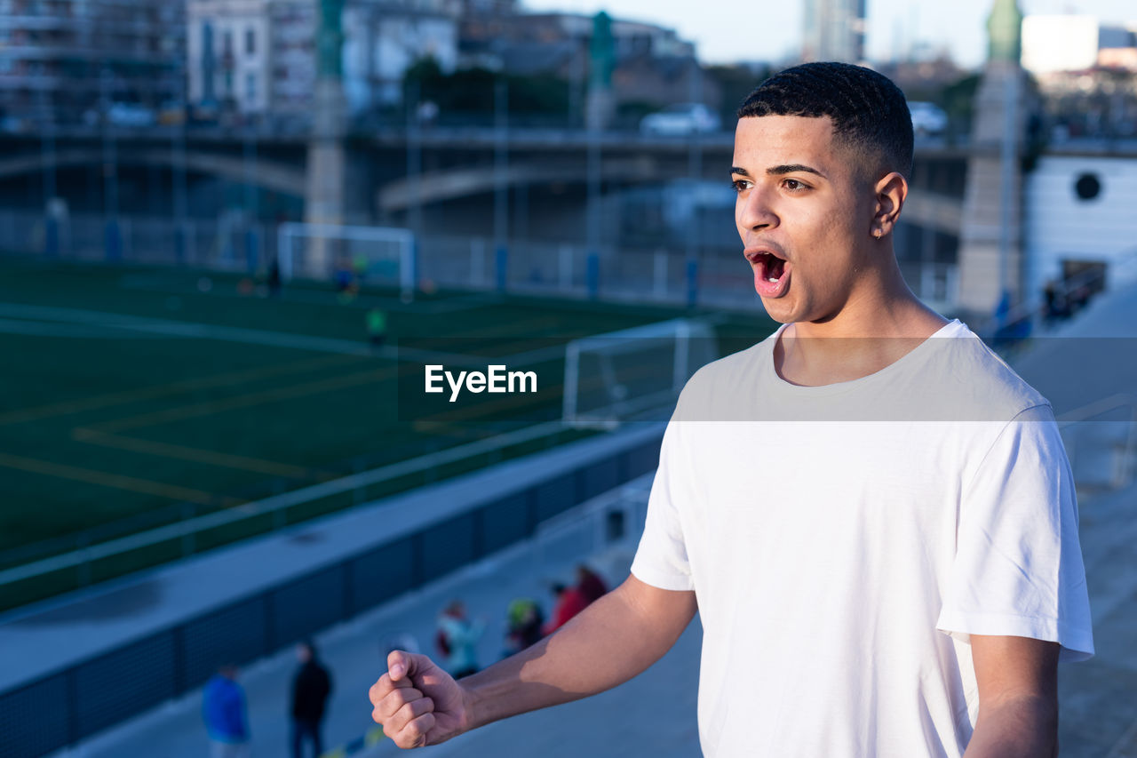
<path fill-rule="evenodd" d="M 951 6 L 918 0 L 869 0 L 865 49 L 870 60 L 904 58 L 913 49 L 947 50 L 964 67 L 982 64 L 987 14 L 993 0 L 958 0 Z M 706 0 L 699 13 L 678 0 L 525 0 L 525 10 L 608 14 L 673 26 L 696 43 L 700 60 L 712 64 L 795 59 L 802 48 L 804 2 L 763 3 Z M 1137 22 L 1132 0 L 1019 0 L 1024 14 L 1088 14 L 1105 22 Z M 739 33 L 739 20 L 767 19 L 770 33 Z"/>

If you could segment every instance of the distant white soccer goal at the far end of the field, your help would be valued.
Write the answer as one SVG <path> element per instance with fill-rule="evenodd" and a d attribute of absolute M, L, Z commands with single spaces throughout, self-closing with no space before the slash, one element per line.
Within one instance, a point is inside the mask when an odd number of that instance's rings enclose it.
<path fill-rule="evenodd" d="M 334 281 L 351 272 L 364 283 L 415 290 L 415 236 L 409 229 L 288 222 L 276 231 L 281 280 Z"/>

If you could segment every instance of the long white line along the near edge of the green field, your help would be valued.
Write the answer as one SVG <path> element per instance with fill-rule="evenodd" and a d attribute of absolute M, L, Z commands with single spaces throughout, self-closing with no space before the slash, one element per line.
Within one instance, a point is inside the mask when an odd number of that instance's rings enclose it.
<path fill-rule="evenodd" d="M 524 429 L 516 429 L 514 431 L 488 437 L 485 439 L 479 439 L 465 445 L 457 445 L 437 453 L 428 453 L 426 455 L 420 455 L 418 458 L 399 461 L 398 463 L 382 465 L 377 469 L 372 469 L 371 471 L 352 473 L 339 479 L 333 479 L 332 481 L 324 481 L 317 485 L 312 485 L 310 487 L 294 489 L 281 495 L 273 495 L 272 497 L 266 497 L 251 503 L 244 503 L 243 505 L 236 505 L 215 513 L 207 513 L 205 516 L 179 521 L 177 524 L 169 524 L 167 526 L 147 529 L 146 532 L 140 532 L 118 539 L 111 539 L 109 542 L 99 543 L 89 547 L 73 550 L 59 555 L 52 555 L 51 558 L 44 558 L 39 561 L 33 561 L 31 563 L 16 566 L 0 571 L 0 586 L 13 582 L 28 579 L 50 571 L 74 568 L 88 561 L 107 558 L 121 552 L 146 547 L 148 545 L 158 544 L 169 539 L 176 539 L 204 529 L 224 526 L 226 524 L 240 521 L 254 516 L 260 516 L 263 513 L 271 513 L 291 505 L 337 495 L 343 492 L 350 492 L 356 487 L 373 485 L 408 473 L 415 473 L 441 463 L 460 461 L 471 455 L 492 452 L 495 450 L 500 450 L 503 447 L 515 445 L 521 442 L 528 442 L 530 439 L 538 439 L 540 437 L 555 434 L 564 428 L 564 423 L 559 419 L 556 421 L 546 421 Z"/>

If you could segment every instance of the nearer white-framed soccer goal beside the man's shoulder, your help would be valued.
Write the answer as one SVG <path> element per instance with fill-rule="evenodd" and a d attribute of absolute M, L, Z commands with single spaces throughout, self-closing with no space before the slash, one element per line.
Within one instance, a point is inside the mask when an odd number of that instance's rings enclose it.
<path fill-rule="evenodd" d="M 705 321 L 674 319 L 565 346 L 565 423 L 611 429 L 670 409 L 699 366 L 719 357 L 714 329 Z"/>

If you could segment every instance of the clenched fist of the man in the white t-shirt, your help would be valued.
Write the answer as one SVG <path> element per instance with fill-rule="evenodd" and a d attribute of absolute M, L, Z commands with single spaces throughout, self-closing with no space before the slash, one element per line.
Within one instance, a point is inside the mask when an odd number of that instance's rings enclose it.
<path fill-rule="evenodd" d="M 471 726 L 468 694 L 426 656 L 392 650 L 370 697 L 371 717 L 400 748 L 446 742 Z"/>

